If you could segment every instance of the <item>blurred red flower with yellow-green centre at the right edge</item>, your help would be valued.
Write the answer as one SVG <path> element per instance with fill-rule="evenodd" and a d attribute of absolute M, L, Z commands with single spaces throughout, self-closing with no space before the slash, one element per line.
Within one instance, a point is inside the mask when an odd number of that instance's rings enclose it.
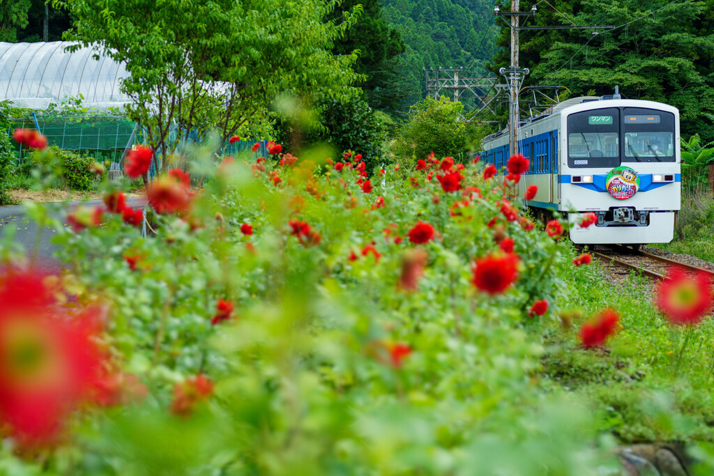
<path fill-rule="evenodd" d="M 712 308 L 712 282 L 705 271 L 688 275 L 682 268 L 670 268 L 655 291 L 657 307 L 672 324 L 697 324 Z"/>

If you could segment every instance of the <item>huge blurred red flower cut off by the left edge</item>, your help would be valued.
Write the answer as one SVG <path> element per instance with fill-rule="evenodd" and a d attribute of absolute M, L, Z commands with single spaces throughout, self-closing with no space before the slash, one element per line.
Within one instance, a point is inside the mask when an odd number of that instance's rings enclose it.
<path fill-rule="evenodd" d="M 0 275 L 0 427 L 20 447 L 61 440 L 71 412 L 91 399 L 104 354 L 99 308 L 56 305 L 34 271 Z"/>

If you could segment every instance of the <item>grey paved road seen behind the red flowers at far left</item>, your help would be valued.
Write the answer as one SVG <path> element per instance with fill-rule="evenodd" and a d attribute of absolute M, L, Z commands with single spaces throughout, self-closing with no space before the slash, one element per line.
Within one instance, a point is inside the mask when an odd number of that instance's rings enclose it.
<path fill-rule="evenodd" d="M 132 207 L 144 206 L 146 203 L 146 198 L 127 198 L 126 203 Z M 102 202 L 100 200 L 86 201 L 86 202 L 73 202 L 72 206 L 83 204 L 85 206 L 98 206 Z M 51 208 L 56 208 L 56 203 L 48 203 L 44 206 L 50 206 Z M 60 218 L 64 222 L 64 212 L 62 211 L 52 211 L 52 216 Z M 14 241 L 16 243 L 21 243 L 24 246 L 27 253 L 30 253 L 34 248 L 34 243 L 39 232 L 37 224 L 28 218 L 25 214 L 24 207 L 21 205 L 17 206 L 4 206 L 0 207 L 0 239 L 4 238 L 4 229 L 7 226 L 14 225 L 17 229 L 15 233 Z M 60 263 L 52 258 L 52 254 L 56 249 L 56 245 L 50 243 L 52 236 L 56 233 L 54 228 L 44 227 L 41 230 L 41 241 L 38 250 L 39 262 L 42 263 L 43 267 L 49 268 L 51 271 L 56 271 L 61 268 Z"/>

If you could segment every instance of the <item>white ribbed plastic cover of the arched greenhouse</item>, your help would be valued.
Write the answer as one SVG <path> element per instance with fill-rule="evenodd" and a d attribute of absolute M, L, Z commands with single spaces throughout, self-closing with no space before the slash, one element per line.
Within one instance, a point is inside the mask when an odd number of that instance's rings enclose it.
<path fill-rule="evenodd" d="M 121 107 L 131 102 L 119 91 L 119 80 L 128 76 L 124 64 L 95 54 L 91 48 L 64 51 L 73 43 L 0 42 L 0 101 L 16 106 L 46 108 L 79 94 L 85 106 Z"/>

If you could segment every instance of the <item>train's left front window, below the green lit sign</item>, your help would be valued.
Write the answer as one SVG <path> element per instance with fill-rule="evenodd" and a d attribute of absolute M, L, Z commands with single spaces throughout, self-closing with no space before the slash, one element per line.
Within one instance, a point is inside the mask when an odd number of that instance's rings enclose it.
<path fill-rule="evenodd" d="M 620 165 L 620 110 L 593 109 L 568 116 L 568 166 Z"/>

